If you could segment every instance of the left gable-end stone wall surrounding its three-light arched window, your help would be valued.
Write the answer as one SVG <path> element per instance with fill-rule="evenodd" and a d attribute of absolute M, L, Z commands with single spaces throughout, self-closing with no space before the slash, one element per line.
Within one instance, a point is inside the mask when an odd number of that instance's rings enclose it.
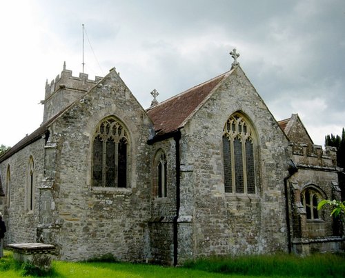
<path fill-rule="evenodd" d="M 91 183 L 95 128 L 110 115 L 124 123 L 130 137 L 128 188 L 95 188 Z M 111 253 L 124 261 L 144 260 L 153 157 L 146 141 L 152 123 L 115 70 L 59 117 L 51 130 L 57 146 L 52 224 L 60 227 L 55 244 L 61 259 Z"/>

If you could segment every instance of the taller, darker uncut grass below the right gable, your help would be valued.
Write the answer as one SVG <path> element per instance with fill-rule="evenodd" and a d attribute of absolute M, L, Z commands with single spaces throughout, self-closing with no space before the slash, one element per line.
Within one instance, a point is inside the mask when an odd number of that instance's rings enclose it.
<path fill-rule="evenodd" d="M 280 254 L 213 257 L 186 262 L 184 267 L 213 273 L 266 277 L 345 277 L 345 256 Z"/>

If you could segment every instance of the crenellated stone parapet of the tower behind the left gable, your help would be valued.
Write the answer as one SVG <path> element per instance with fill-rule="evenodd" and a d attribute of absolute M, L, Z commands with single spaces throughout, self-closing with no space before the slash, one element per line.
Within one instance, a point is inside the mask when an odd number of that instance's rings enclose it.
<path fill-rule="evenodd" d="M 66 63 L 63 63 L 61 75 L 57 75 L 50 83 L 46 81 L 45 101 L 49 99 L 57 90 L 68 88 L 72 90 L 88 91 L 95 86 L 103 77 L 95 77 L 95 80 L 88 79 L 87 73 L 79 72 L 79 77 L 72 76 L 72 70 L 66 70 Z"/>

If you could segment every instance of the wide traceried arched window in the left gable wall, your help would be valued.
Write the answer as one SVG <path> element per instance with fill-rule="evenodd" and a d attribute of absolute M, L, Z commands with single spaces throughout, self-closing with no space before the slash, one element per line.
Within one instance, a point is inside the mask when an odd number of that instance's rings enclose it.
<path fill-rule="evenodd" d="M 122 187 L 128 184 L 128 132 L 115 117 L 97 126 L 92 148 L 92 186 Z"/>

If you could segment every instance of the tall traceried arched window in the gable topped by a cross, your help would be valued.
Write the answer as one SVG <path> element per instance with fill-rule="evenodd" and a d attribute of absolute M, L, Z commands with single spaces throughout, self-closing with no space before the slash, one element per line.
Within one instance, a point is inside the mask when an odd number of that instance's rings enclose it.
<path fill-rule="evenodd" d="M 255 194 L 253 129 L 239 113 L 224 125 L 223 157 L 225 192 Z"/>

